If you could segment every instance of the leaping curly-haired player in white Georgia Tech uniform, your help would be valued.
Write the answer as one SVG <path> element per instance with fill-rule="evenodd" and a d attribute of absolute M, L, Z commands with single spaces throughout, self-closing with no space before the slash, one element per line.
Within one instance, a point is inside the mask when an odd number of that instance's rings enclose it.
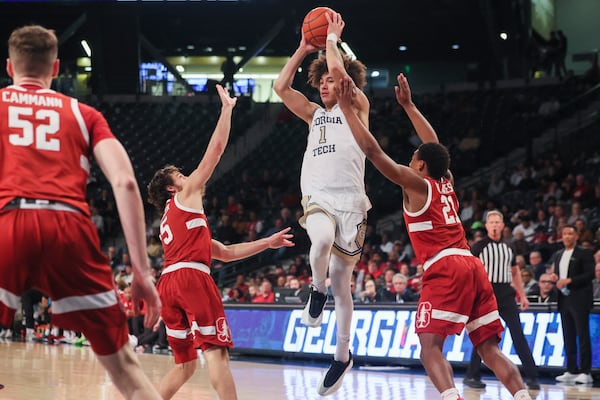
<path fill-rule="evenodd" d="M 337 322 L 334 360 L 318 388 L 323 396 L 338 390 L 344 374 L 352 368 L 350 280 L 362 251 L 367 211 L 371 208 L 365 193 L 365 155 L 352 137 L 333 90 L 342 77 L 350 77 L 363 88 L 366 68 L 360 61 L 340 54 L 337 44 L 344 28 L 342 17 L 328 15 L 328 21 L 325 54 L 312 62 L 308 72 L 309 83 L 319 89 L 324 107 L 291 86 L 304 58 L 318 50 L 304 36 L 275 81 L 275 92 L 284 104 L 309 126 L 300 177 L 304 207 L 300 222 L 311 240 L 313 282 L 302 320 L 310 327 L 321 324 L 329 268 Z M 368 126 L 369 101 L 360 90 L 354 111 Z"/>

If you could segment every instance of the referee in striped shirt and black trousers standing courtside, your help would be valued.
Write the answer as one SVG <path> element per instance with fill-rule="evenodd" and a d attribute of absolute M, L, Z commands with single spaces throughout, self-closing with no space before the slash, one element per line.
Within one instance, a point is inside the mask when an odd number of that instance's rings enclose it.
<path fill-rule="evenodd" d="M 519 308 L 515 301 L 515 290 L 521 300 L 521 310 L 529 307 L 529 301 L 523 290 L 519 267 L 515 262 L 515 252 L 510 245 L 502 241 L 504 229 L 502 213 L 497 210 L 488 212 L 485 228 L 487 237 L 473 244 L 471 252 L 481 259 L 487 270 L 498 302 L 498 312 L 510 330 L 515 350 L 523 364 L 525 383 L 529 389 L 539 390 L 537 367 L 523 335 Z M 475 389 L 485 388 L 485 383 L 481 382 L 481 357 L 477 351 L 473 351 L 471 355 L 471 363 L 463 383 Z"/>

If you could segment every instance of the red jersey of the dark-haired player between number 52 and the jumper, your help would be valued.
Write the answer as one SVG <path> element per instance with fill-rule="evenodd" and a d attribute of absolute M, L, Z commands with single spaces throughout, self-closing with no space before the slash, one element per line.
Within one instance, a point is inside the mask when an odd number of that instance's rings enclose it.
<path fill-rule="evenodd" d="M 178 262 L 198 262 L 210 266 L 212 236 L 203 210 L 184 207 L 177 195 L 167 200 L 160 221 L 160 240 L 165 267 Z"/>

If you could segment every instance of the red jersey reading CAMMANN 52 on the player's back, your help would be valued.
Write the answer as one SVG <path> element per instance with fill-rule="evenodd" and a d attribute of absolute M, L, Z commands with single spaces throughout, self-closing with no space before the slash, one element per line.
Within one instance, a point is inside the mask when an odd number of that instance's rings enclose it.
<path fill-rule="evenodd" d="M 114 138 L 98 111 L 38 86 L 0 89 L 0 209 L 14 197 L 58 200 L 89 215 L 92 149 Z"/>

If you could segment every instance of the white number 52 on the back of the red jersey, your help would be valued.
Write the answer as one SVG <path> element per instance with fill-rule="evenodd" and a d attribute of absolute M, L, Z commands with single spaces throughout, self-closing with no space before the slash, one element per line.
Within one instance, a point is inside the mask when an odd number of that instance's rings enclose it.
<path fill-rule="evenodd" d="M 11 133 L 8 140 L 15 146 L 31 146 L 40 150 L 60 151 L 60 141 L 49 137 L 60 129 L 60 116 L 55 110 L 38 110 L 34 124 L 26 116 L 33 115 L 31 107 L 8 107 L 9 128 L 20 129 L 20 133 Z"/>

